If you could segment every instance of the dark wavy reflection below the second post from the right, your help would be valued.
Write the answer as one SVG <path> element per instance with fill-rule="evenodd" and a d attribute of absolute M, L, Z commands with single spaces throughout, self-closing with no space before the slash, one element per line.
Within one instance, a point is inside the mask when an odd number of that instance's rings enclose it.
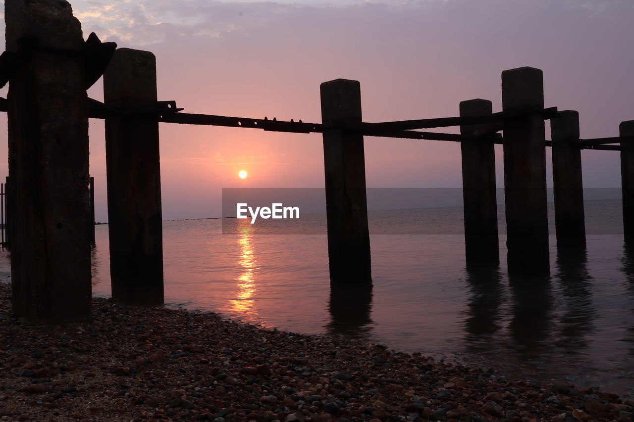
<path fill-rule="evenodd" d="M 558 244 L 559 245 L 559 244 Z M 564 296 L 560 343 L 569 354 L 588 345 L 595 309 L 592 306 L 592 277 L 586 268 L 586 250 L 557 248 L 557 275 Z"/>

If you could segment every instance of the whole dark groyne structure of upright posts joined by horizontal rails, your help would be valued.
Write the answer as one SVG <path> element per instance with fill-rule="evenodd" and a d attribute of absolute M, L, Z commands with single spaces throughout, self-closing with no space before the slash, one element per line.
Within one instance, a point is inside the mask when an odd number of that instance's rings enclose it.
<path fill-rule="evenodd" d="M 9 123 L 13 310 L 32 323 L 89 317 L 89 118 L 105 119 L 112 297 L 126 304 L 164 302 L 159 122 L 323 134 L 333 286 L 372 283 L 365 136 L 460 143 L 467 264 L 500 260 L 494 144 L 503 144 L 509 272 L 549 269 L 547 148 L 557 246 L 585 248 L 583 149 L 620 152 L 624 238 L 634 242 L 634 120 L 621 123 L 618 137 L 579 139 L 578 113 L 545 108 L 539 69 L 502 72 L 498 113 L 491 101 L 471 99 L 457 117 L 363 122 L 359 82 L 337 79 L 321 84 L 318 124 L 190 114 L 176 101 L 159 101 L 152 53 L 94 34 L 84 41 L 65 1 L 6 0 L 5 20 L 0 86 L 9 83 L 9 93 L 0 111 Z M 100 103 L 86 90 L 102 74 Z M 424 131 L 451 126 L 460 134 Z"/>

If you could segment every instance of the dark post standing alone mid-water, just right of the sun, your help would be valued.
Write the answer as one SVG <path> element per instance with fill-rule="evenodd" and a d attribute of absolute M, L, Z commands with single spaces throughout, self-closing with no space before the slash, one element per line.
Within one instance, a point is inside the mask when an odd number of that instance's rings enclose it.
<path fill-rule="evenodd" d="M 321 120 L 330 282 L 371 283 L 363 135 L 354 131 L 361 126 L 358 81 L 321 84 Z"/>

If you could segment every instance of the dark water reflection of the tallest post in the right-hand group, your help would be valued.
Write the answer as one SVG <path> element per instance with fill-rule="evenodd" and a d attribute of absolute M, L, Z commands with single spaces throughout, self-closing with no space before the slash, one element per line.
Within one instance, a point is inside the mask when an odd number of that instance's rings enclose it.
<path fill-rule="evenodd" d="M 513 295 L 510 335 L 524 357 L 541 354 L 541 347 L 552 329 L 550 276 L 508 274 Z"/>

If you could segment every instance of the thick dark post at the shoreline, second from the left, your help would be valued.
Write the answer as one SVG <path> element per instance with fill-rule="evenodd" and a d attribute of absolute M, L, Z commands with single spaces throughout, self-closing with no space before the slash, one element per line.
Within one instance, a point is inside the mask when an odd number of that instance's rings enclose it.
<path fill-rule="evenodd" d="M 108 233 L 112 298 L 163 304 L 156 59 L 117 49 L 103 75 L 105 104 L 125 111 L 106 119 Z"/>

